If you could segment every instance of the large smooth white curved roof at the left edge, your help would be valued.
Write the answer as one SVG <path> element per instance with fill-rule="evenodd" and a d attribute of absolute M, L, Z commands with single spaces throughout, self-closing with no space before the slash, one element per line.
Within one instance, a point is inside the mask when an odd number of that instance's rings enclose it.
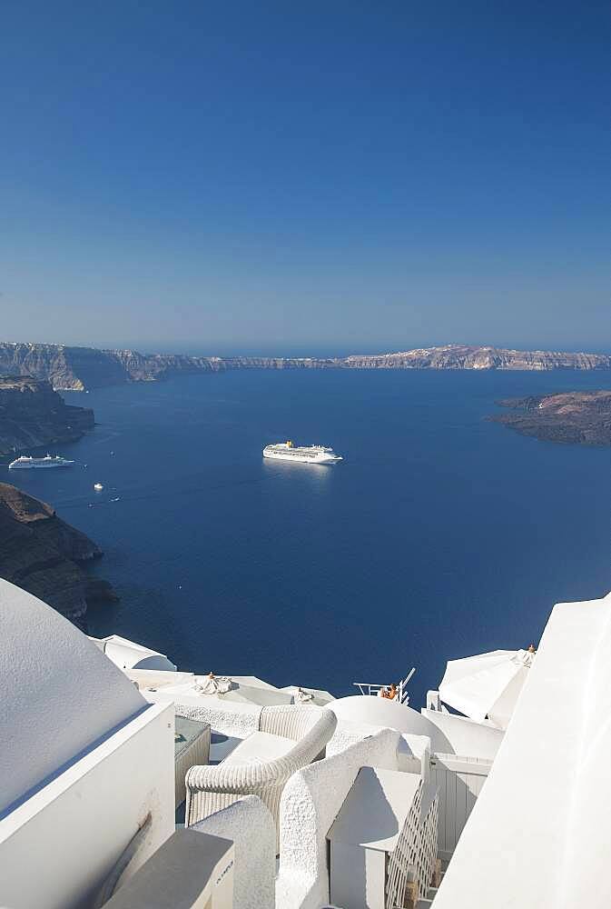
<path fill-rule="evenodd" d="M 0 578 L 0 814 L 147 702 L 73 624 Z"/>

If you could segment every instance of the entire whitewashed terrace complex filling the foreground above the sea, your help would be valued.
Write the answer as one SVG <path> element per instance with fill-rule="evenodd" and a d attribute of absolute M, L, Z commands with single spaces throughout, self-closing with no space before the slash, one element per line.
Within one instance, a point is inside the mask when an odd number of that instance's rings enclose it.
<path fill-rule="evenodd" d="M 606 909 L 611 595 L 527 662 L 495 725 L 177 672 L 0 581 L 0 905 Z"/>

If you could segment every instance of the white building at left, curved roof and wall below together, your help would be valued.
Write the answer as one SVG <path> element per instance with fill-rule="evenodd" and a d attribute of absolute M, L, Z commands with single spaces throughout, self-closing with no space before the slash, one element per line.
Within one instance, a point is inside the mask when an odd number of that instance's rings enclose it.
<path fill-rule="evenodd" d="M 92 905 L 141 826 L 132 872 L 172 834 L 172 707 L 2 580 L 0 674 L 0 905 Z"/>

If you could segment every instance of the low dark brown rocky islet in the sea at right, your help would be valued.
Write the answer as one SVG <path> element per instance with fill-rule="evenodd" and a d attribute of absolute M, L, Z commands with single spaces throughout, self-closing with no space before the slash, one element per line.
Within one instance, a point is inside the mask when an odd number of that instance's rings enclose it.
<path fill-rule="evenodd" d="M 611 391 L 508 398 L 498 404 L 519 413 L 490 419 L 522 435 L 573 445 L 611 445 Z"/>

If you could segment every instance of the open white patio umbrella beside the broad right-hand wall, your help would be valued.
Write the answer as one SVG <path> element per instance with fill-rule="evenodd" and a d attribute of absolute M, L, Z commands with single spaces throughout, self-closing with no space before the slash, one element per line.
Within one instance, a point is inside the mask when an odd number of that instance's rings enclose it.
<path fill-rule="evenodd" d="M 488 716 L 499 728 L 507 729 L 534 655 L 527 650 L 494 650 L 450 660 L 439 697 L 478 723 Z"/>

